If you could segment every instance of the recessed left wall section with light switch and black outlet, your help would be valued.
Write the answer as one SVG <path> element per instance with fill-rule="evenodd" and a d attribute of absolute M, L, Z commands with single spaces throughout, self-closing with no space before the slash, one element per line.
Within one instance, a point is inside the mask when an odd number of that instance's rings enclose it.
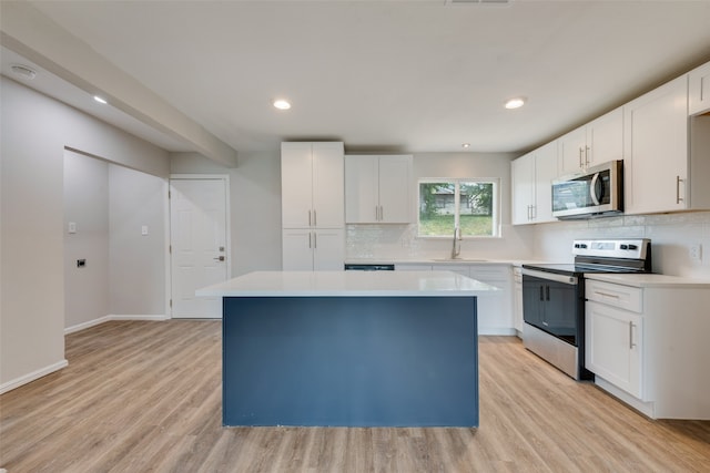
<path fill-rule="evenodd" d="M 109 163 L 64 152 L 63 235 L 67 328 L 109 313 Z"/>

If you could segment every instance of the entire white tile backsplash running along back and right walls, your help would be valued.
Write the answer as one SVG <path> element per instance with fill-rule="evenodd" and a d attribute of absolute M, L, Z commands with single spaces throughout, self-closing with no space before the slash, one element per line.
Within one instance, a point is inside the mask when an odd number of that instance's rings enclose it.
<path fill-rule="evenodd" d="M 655 273 L 710 278 L 710 212 L 504 225 L 501 235 L 463 240 L 462 256 L 570 263 L 575 238 L 642 237 L 651 239 Z M 445 258 L 450 250 L 450 238 L 418 238 L 416 225 L 346 226 L 347 259 Z M 698 253 L 699 258 L 691 256 Z"/>

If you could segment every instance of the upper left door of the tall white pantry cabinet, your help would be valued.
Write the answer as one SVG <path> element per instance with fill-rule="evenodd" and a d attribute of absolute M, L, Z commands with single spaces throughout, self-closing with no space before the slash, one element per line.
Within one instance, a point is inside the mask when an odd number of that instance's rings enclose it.
<path fill-rule="evenodd" d="M 282 227 L 308 227 L 313 218 L 311 143 L 281 144 Z"/>

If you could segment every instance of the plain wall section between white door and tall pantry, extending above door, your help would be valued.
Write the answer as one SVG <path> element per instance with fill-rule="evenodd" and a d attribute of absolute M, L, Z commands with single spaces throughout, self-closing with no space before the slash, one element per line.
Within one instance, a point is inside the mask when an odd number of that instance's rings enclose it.
<path fill-rule="evenodd" d="M 174 153 L 173 174 L 227 174 L 232 276 L 281 269 L 281 154 L 240 153 L 237 167 L 197 154 Z"/>

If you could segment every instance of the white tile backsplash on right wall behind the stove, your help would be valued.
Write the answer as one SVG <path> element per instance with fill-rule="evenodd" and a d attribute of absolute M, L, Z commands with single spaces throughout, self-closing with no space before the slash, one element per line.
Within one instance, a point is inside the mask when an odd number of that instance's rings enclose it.
<path fill-rule="evenodd" d="M 653 273 L 710 278 L 710 212 L 628 215 L 535 225 L 535 256 L 569 263 L 575 238 L 650 238 Z M 701 260 L 690 258 L 700 244 Z"/>

